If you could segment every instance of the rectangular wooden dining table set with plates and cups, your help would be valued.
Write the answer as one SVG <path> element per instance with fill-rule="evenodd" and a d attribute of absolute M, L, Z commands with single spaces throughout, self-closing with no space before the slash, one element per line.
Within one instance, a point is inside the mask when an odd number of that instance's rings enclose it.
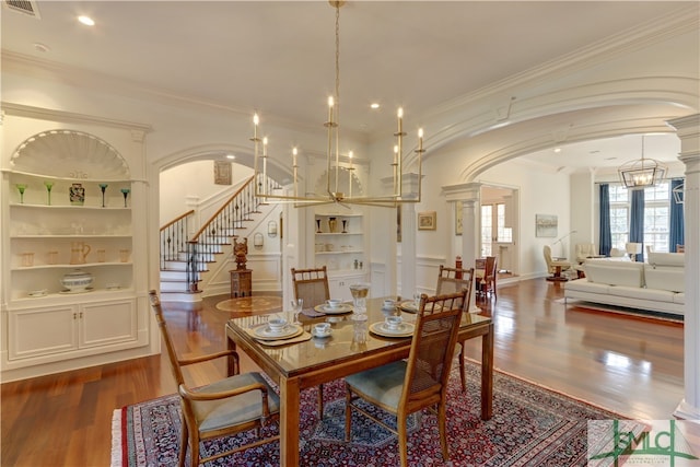
<path fill-rule="evenodd" d="M 280 465 L 299 465 L 300 398 L 303 389 L 342 378 L 350 374 L 408 357 L 411 336 L 393 334 L 384 336 L 380 324 L 389 315 L 400 315 L 404 323 L 416 320 L 413 301 L 396 301 L 396 306 L 384 306 L 386 299 L 368 299 L 366 314 L 353 313 L 351 304 L 338 312 L 323 305 L 302 312 L 296 327 L 302 332 L 289 339 L 268 341 L 259 338 L 270 315 L 232 318 L 225 332 L 229 349 L 245 352 L 279 386 L 280 392 Z M 324 313 L 327 312 L 327 313 Z M 342 312 L 342 313 L 339 313 Z M 281 313 L 290 323 L 293 314 Z M 360 319 L 358 319 L 360 316 Z M 318 323 L 330 324 L 328 337 L 311 337 Z M 373 331 L 374 330 L 374 331 Z M 265 337 L 265 336 L 262 336 Z M 458 341 L 481 337 L 481 419 L 489 420 L 493 406 L 493 322 L 490 317 L 464 313 L 459 326 Z M 229 361 L 229 374 L 233 374 L 233 359 Z M 466 395 L 465 395 L 466 397 Z"/>

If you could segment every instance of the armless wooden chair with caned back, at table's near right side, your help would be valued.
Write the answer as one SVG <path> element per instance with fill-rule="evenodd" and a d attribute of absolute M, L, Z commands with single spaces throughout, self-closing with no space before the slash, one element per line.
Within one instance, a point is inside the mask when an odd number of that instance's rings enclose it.
<path fill-rule="evenodd" d="M 447 381 L 467 291 L 421 295 L 408 359 L 346 376 L 346 441 L 352 432 L 352 410 L 398 436 L 401 467 L 408 465 L 407 419 L 410 413 L 438 407 L 443 459 L 450 459 L 446 431 Z M 440 306 L 435 306 L 440 305 Z M 396 429 L 355 401 L 363 399 L 396 416 Z"/>

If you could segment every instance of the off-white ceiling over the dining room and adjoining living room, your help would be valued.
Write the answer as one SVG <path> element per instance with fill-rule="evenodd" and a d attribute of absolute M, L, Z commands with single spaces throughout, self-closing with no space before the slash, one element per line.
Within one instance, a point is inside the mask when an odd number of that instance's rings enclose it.
<path fill-rule="evenodd" d="M 5 7 L 3 0 L 3 7 Z M 320 125 L 335 85 L 335 10 L 326 1 L 46 1 L 3 8 L 3 57 L 118 80 L 161 95 L 280 121 Z M 640 27 L 688 2 L 350 1 L 340 10 L 341 125 L 368 135 L 420 118 L 573 50 Z M 95 21 L 77 22 L 80 14 Z M 673 52 L 673 51 L 669 51 Z M 382 107 L 371 110 L 378 102 Z M 674 135 L 646 156 L 674 160 Z M 597 151 L 597 152 L 596 152 Z M 616 166 L 641 137 L 542 151 L 555 167 Z M 592 159 L 594 157 L 594 160 Z M 611 159 L 618 157 L 618 159 Z M 594 162 L 592 162 L 594 161 Z"/>

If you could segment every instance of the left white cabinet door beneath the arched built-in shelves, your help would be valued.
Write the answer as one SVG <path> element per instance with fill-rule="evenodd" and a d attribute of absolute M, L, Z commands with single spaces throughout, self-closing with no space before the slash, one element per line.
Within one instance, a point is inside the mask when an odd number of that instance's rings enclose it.
<path fill-rule="evenodd" d="M 72 305 L 10 312 L 10 360 L 78 349 L 78 319 Z"/>

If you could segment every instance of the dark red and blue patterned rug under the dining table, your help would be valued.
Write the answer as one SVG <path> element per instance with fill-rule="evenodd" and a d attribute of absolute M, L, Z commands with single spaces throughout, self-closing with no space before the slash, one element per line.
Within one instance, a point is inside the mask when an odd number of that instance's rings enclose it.
<path fill-rule="evenodd" d="M 469 363 L 468 388 L 463 394 L 457 367 L 450 382 L 447 430 L 451 462 L 444 463 L 435 417 L 423 412 L 409 435 L 412 466 L 585 466 L 587 420 L 620 419 L 596 408 L 522 380 L 495 372 L 493 418 L 480 419 L 480 367 Z M 396 437 L 353 412 L 353 435 L 343 441 L 345 400 L 341 382 L 324 386 L 326 417 L 316 416 L 316 389 L 301 400 L 302 466 L 383 467 L 399 464 Z M 357 419 L 354 418 L 357 417 Z M 631 422 L 630 422 L 631 423 Z M 175 395 L 115 410 L 112 466 L 177 465 L 179 402 Z M 277 431 L 272 425 L 268 432 Z M 248 434 L 253 436 L 253 433 Z M 202 455 L 236 444 L 238 436 L 202 443 Z M 600 443 L 606 443 L 602 440 Z M 607 463 L 605 463 L 607 464 Z M 605 465 L 596 464 L 596 465 Z M 270 443 L 207 464 L 212 466 L 278 466 L 279 445 Z"/>

